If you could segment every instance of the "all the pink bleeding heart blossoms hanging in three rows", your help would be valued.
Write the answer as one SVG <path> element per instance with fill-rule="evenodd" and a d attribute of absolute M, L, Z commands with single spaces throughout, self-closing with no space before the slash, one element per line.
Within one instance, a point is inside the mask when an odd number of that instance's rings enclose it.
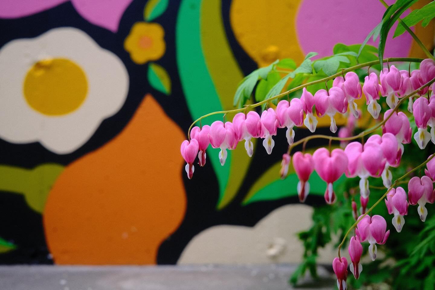
<path fill-rule="evenodd" d="M 412 127 L 409 119 L 405 113 L 398 111 L 398 104 L 403 103 L 401 98 L 409 99 L 408 110 L 413 114 L 415 125 L 418 128 L 413 137 L 420 149 L 424 149 L 429 140 L 435 143 L 435 96 L 433 85 L 428 86 L 428 83 L 432 82 L 434 78 L 435 62 L 430 59 L 423 60 L 420 69 L 412 72 L 398 70 L 392 65 L 383 69 L 379 76 L 374 72 L 369 73 L 362 86 L 358 75 L 354 72 L 348 72 L 342 77 L 336 77 L 331 88 L 326 87 L 326 89 L 318 90 L 314 96 L 303 88 L 300 98 L 293 98 L 290 101 L 281 100 L 276 110 L 269 108 L 264 110 L 261 116 L 255 111 L 250 111 L 247 114 L 238 113 L 232 122 L 215 121 L 211 126 L 194 127 L 191 130 L 191 140 L 185 140 L 181 145 L 181 154 L 187 162 L 187 176 L 192 177 L 193 162 L 196 155 L 199 158 L 200 166 L 204 166 L 205 150 L 209 144 L 213 148 L 221 149 L 219 159 L 224 165 L 227 157 L 226 150 L 235 149 L 241 140 L 245 140 L 245 149 L 250 157 L 253 154 L 251 138 L 263 139 L 266 152 L 271 154 L 274 147 L 273 136 L 277 134 L 277 129 L 287 128 L 286 137 L 289 150 L 283 154 L 280 175 L 281 178 L 287 176 L 289 165 L 293 159 L 294 171 L 299 178 L 296 187 L 301 202 L 304 202 L 309 194 L 310 184 L 308 180 L 314 171 L 326 183 L 324 197 L 328 204 L 334 203 L 336 200 L 333 183 L 343 173 L 346 177 L 360 178 L 361 208 L 358 212 L 357 204 L 352 199 L 352 213 L 358 223 L 348 248 L 352 262 L 350 270 L 358 279 L 362 270 L 360 264 L 361 243 L 368 242 L 370 244 L 368 247 L 369 255 L 372 260 L 375 260 L 376 244 L 384 244 L 390 234 L 383 217 L 367 215 L 370 195 L 368 177 L 381 178 L 384 186 L 389 188 L 384 195 L 384 197 L 386 196 L 385 204 L 388 213 L 394 215 L 392 224 L 397 232 L 400 232 L 405 224 L 404 216 L 408 214 L 409 205 L 418 204 L 417 210 L 424 222 L 427 216 L 425 204 L 435 202 L 433 186 L 435 182 L 435 158 L 427 162 L 425 176 L 413 177 L 409 180 L 408 194 L 402 187 L 392 187 L 392 174 L 389 169 L 400 165 L 404 153 L 403 145 L 411 143 L 412 139 Z M 424 88 L 421 89 L 422 87 Z M 432 91 L 432 94 L 429 91 Z M 365 142 L 363 139 L 361 142 L 348 143 L 348 141 L 356 139 L 351 135 L 361 111 L 358 110 L 355 100 L 361 98 L 363 93 L 368 106 L 367 111 L 375 119 L 378 119 L 381 113 L 381 106 L 378 103 L 380 97 L 386 98 L 386 103 L 390 109 L 384 113 L 381 135 L 371 135 Z M 330 118 L 330 130 L 333 133 L 337 131 L 335 115 L 345 114 L 348 117 L 347 126 L 342 127 L 338 132 L 341 148 L 333 150 L 319 148 L 311 155 L 304 152 L 304 143 L 302 152 L 296 152 L 291 157 L 290 152 L 294 146 L 295 136 L 293 128 L 301 127 L 304 124 L 308 130 L 314 132 L 318 122 L 315 114 L 317 117 L 327 115 Z M 428 126 L 431 127 L 430 133 L 427 130 Z M 359 136 L 364 137 L 367 133 L 361 133 Z M 305 142 L 307 140 L 305 138 Z M 340 257 L 339 254 L 339 257 L 334 259 L 332 266 L 337 275 L 338 288 L 347 289 L 347 259 Z"/>

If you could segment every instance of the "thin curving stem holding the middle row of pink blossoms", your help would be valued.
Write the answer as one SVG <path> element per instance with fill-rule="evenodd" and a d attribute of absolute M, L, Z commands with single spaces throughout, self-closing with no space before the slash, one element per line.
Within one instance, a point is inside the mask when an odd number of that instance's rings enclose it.
<path fill-rule="evenodd" d="M 288 147 L 288 151 L 287 153 L 290 154 L 291 149 L 295 146 L 298 146 L 299 144 L 311 140 L 311 139 L 329 139 L 329 140 L 336 140 L 336 141 L 350 141 L 350 140 L 355 140 L 358 138 L 362 138 L 365 135 L 368 135 L 370 133 L 375 132 L 379 127 L 381 127 L 382 125 L 384 125 L 388 119 L 395 113 L 395 111 L 398 110 L 398 108 L 400 107 L 400 105 L 405 102 L 405 100 L 407 100 L 409 97 L 414 96 L 416 93 L 418 93 L 419 90 L 424 89 L 425 87 L 430 86 L 432 83 L 435 82 L 435 78 L 433 78 L 432 80 L 430 80 L 428 83 L 425 83 L 424 85 L 422 85 L 421 87 L 419 87 L 417 90 L 413 91 L 412 93 L 402 97 L 400 99 L 400 101 L 397 103 L 396 107 L 394 107 L 394 109 L 391 111 L 391 113 L 378 125 L 376 125 L 375 127 L 371 128 L 371 129 L 367 129 L 365 131 L 362 131 L 361 133 L 359 133 L 358 135 L 352 136 L 352 137 L 332 137 L 332 136 L 328 136 L 328 135 L 311 135 L 311 136 L 307 136 L 305 138 L 302 138 L 301 140 L 298 140 L 297 142 L 294 142 L 293 144 L 291 144 L 291 146 Z"/>

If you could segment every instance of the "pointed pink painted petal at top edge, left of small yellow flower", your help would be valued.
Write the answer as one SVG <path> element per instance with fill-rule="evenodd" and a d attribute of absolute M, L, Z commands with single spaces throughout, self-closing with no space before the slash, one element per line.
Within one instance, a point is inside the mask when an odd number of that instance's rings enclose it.
<path fill-rule="evenodd" d="M 132 0 L 71 0 L 77 12 L 90 23 L 118 31 L 122 14 Z"/>

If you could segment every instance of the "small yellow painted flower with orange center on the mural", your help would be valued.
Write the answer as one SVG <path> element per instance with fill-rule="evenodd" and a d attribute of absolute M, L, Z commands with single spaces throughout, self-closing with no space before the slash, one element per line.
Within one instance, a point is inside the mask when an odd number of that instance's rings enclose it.
<path fill-rule="evenodd" d="M 164 29 L 158 23 L 136 22 L 124 41 L 124 49 L 137 64 L 158 60 L 164 55 Z"/>

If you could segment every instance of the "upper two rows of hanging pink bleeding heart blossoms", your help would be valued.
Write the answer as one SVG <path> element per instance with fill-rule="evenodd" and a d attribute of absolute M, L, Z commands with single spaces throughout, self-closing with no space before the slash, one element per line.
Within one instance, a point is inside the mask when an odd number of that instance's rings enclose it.
<path fill-rule="evenodd" d="M 361 143 L 352 142 L 345 147 L 344 152 L 343 150 L 333 150 L 330 154 L 325 149 L 320 150 L 317 153 L 318 158 L 304 158 L 304 160 L 311 160 L 306 161 L 311 163 L 309 166 L 295 168 L 295 170 L 301 180 L 298 185 L 301 201 L 305 200 L 308 194 L 307 177 L 309 177 L 312 172 L 310 169 L 313 167 L 328 184 L 325 193 L 325 200 L 328 203 L 334 202 L 332 183 L 342 173 L 346 173 L 348 177 L 360 177 L 361 195 L 368 197 L 367 178 L 369 176 L 382 177 L 384 185 L 391 186 L 391 172 L 388 168 L 399 165 L 404 151 L 402 144 L 411 142 L 412 129 L 408 117 L 405 113 L 396 110 L 399 99 L 417 90 L 434 77 L 435 62 L 430 59 L 423 60 L 420 70 L 413 70 L 411 73 L 406 70 L 398 70 L 394 65 L 382 70 L 379 77 L 372 72 L 365 77 L 362 87 L 358 75 L 354 72 L 348 72 L 342 77 L 336 77 L 333 81 L 333 87 L 330 89 L 326 87 L 326 89 L 318 90 L 313 96 L 303 88 L 300 98 L 293 98 L 290 101 L 281 100 L 276 110 L 269 108 L 264 110 L 261 116 L 255 111 L 250 111 L 247 114 L 236 114 L 232 122 L 215 121 L 211 126 L 194 127 L 191 130 L 191 140 L 185 140 L 181 145 L 181 155 L 187 163 L 187 176 L 192 177 L 193 162 L 196 155 L 199 159 L 199 165 L 205 165 L 205 151 L 209 144 L 213 148 L 221 149 L 219 152 L 221 165 L 225 164 L 227 149 L 235 149 L 241 140 L 244 140 L 246 152 L 250 157 L 254 151 L 251 138 L 263 139 L 264 148 L 268 154 L 271 154 L 274 147 L 273 136 L 276 135 L 278 128 L 287 128 L 287 142 L 291 145 L 294 141 L 294 127 L 301 127 L 305 124 L 311 132 L 315 131 L 318 121 L 314 112 L 317 117 L 327 115 L 331 119 L 330 130 L 333 133 L 337 131 L 335 115 L 337 113 L 347 114 L 348 126 L 342 128 L 339 135 L 340 137 L 350 137 L 355 127 L 356 118 L 360 115 L 355 100 L 361 98 L 362 92 L 364 92 L 368 105 L 367 110 L 375 119 L 379 117 L 381 111 L 381 106 L 377 102 L 381 96 L 386 97 L 386 102 L 391 108 L 384 114 L 386 122 L 383 126 L 383 135 L 371 136 L 364 146 Z M 430 89 L 432 90 L 432 87 Z M 414 114 L 415 124 L 418 127 L 414 139 L 421 149 L 424 149 L 431 139 L 435 143 L 435 97 L 432 93 L 432 97 L 428 100 L 425 97 L 426 93 L 428 93 L 427 87 L 418 90 L 417 99 L 414 101 L 413 97 L 415 96 L 409 97 L 410 104 L 408 106 Z M 348 108 L 350 114 L 347 113 Z M 431 127 L 430 133 L 427 131 L 427 126 Z M 192 143 L 192 140 L 196 141 Z M 345 143 L 342 143 L 342 146 L 345 146 Z M 331 164 L 338 164 L 337 158 L 340 162 L 342 161 L 339 166 L 331 165 L 331 168 L 328 168 L 327 163 L 323 162 L 331 159 Z M 282 177 L 287 174 L 288 168 L 286 167 L 289 163 L 290 157 L 284 154 Z M 316 163 L 318 163 L 317 166 Z M 349 163 L 348 166 L 347 163 Z"/>

